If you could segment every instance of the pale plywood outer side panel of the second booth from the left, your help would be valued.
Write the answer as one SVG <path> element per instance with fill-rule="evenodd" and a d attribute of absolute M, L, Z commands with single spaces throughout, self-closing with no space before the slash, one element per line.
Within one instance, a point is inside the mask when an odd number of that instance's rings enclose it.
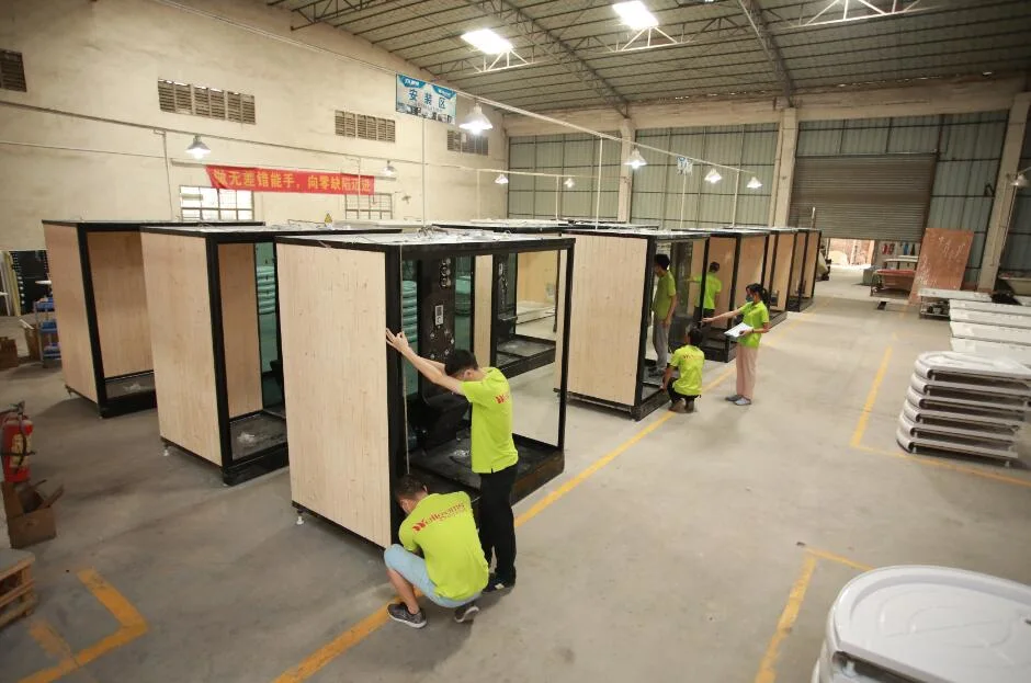
<path fill-rule="evenodd" d="M 220 466 L 205 240 L 140 238 L 161 437 Z"/>

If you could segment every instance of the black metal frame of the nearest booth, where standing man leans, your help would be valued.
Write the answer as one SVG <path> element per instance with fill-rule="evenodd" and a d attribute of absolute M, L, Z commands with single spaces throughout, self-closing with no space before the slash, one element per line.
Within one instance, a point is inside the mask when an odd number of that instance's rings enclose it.
<path fill-rule="evenodd" d="M 297 244 L 313 247 L 311 240 L 305 240 L 298 237 L 284 236 L 277 237 L 275 239 L 276 244 Z M 567 282 L 571 282 L 573 276 L 573 262 L 574 262 L 574 243 L 575 240 L 571 238 L 559 238 L 559 237 L 548 237 L 546 239 L 529 237 L 525 239 L 518 240 L 506 240 L 503 242 L 465 242 L 465 243 L 405 243 L 405 244 L 390 244 L 390 243 L 376 243 L 370 241 L 338 241 L 338 240 L 326 240 L 321 242 L 322 247 L 335 248 L 335 249 L 352 249 L 359 251 L 376 251 L 384 254 L 384 297 L 386 300 L 386 326 L 392 330 L 401 329 L 401 264 L 405 260 L 418 260 L 418 259 L 432 259 L 432 258 L 461 258 L 461 257 L 474 257 L 473 259 L 473 285 L 474 285 L 474 307 L 475 307 L 475 267 L 476 259 L 475 257 L 481 255 L 505 255 L 512 252 L 529 252 L 529 251 L 566 251 L 566 277 Z M 494 308 L 494 291 L 496 289 L 491 282 L 491 309 Z M 569 327 L 569 308 L 570 308 L 570 293 L 571 288 L 566 288 L 565 294 L 565 307 L 564 307 L 564 329 Z M 474 326 L 475 326 L 475 308 L 473 309 L 474 316 Z M 494 316 L 491 316 L 494 318 Z M 491 327 L 494 325 L 491 323 Z M 475 327 L 473 329 L 473 339 L 475 340 Z M 494 332 L 491 332 L 494 335 Z M 494 339 L 491 338 L 491 345 L 494 345 Z M 404 358 L 400 354 L 392 353 L 387 355 L 387 432 L 388 432 L 388 446 L 387 453 L 389 463 L 387 464 L 387 473 L 389 477 L 389 487 L 393 491 L 394 485 L 398 477 L 404 476 L 410 469 L 408 460 L 408 424 L 407 424 L 407 410 L 405 401 L 407 397 L 404 390 Z M 513 490 L 513 500 L 512 502 L 518 502 L 519 500 L 525 498 L 533 491 L 537 490 L 546 482 L 551 481 L 565 470 L 565 444 L 566 444 L 566 397 L 568 391 L 568 380 L 566 374 L 569 367 L 569 335 L 563 335 L 562 343 L 562 380 L 559 383 L 558 395 L 558 439 L 556 444 L 546 444 L 528 436 L 522 436 L 520 434 L 513 434 L 517 446 L 520 444 L 526 446 L 533 446 L 539 449 L 552 451 L 550 457 L 542 462 L 537 467 L 535 467 L 530 473 L 524 474 L 522 477 L 517 479 L 516 487 Z M 418 467 L 418 466 L 416 466 Z M 420 469 L 421 471 L 421 469 Z M 440 475 L 433 475 L 430 473 L 431 478 L 441 479 Z M 463 485 L 462 482 L 453 482 L 456 488 L 461 488 L 467 491 L 473 498 L 474 501 L 478 499 L 478 491 L 476 489 L 471 489 L 469 487 Z M 298 503 L 297 501 L 291 501 L 293 506 L 299 512 L 307 512 L 314 514 L 315 516 L 325 520 L 333 526 L 349 531 L 340 524 L 333 522 L 332 520 L 327 520 L 322 515 L 313 513 L 308 508 Z M 397 528 L 404 520 L 404 511 L 396 503 L 390 504 L 390 537 L 392 540 L 397 540 Z"/>

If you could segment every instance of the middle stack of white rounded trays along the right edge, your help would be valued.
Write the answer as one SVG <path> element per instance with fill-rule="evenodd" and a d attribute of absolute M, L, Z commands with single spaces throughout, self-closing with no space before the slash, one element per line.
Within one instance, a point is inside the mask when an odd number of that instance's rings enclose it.
<path fill-rule="evenodd" d="M 910 453 L 1018 457 L 1018 434 L 1031 410 L 1031 369 L 1011 358 L 950 351 L 915 364 L 896 440 Z"/>

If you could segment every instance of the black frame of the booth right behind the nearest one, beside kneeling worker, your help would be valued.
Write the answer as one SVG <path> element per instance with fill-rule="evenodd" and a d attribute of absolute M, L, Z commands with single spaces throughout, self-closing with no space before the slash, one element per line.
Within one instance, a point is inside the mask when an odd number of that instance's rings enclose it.
<path fill-rule="evenodd" d="M 588 226 L 591 227 L 591 226 Z M 653 234 L 646 231 L 632 231 L 627 230 L 625 226 L 620 227 L 613 226 L 603 231 L 599 230 L 589 230 L 584 228 L 575 228 L 566 230 L 568 235 L 585 235 L 591 237 L 600 236 L 610 236 L 610 237 L 622 237 L 622 238 L 639 238 L 648 240 L 648 246 L 646 249 L 646 261 L 645 261 L 645 276 L 644 276 L 644 287 L 642 291 L 641 297 L 641 337 L 637 343 L 637 375 L 634 378 L 634 402 L 633 403 L 620 403 L 618 401 L 610 401 L 607 399 L 596 398 L 592 396 L 585 396 L 582 394 L 569 394 L 569 398 L 574 398 L 587 403 L 593 403 L 597 406 L 602 406 L 604 408 L 611 408 L 613 410 L 619 410 L 621 412 L 628 412 L 634 420 L 643 420 L 655 410 L 666 405 L 669 401 L 669 395 L 658 389 L 650 396 L 644 397 L 645 391 L 645 382 L 644 374 L 645 368 L 650 364 L 647 357 L 648 349 L 648 326 L 652 320 L 652 289 L 655 274 L 652 271 L 652 264 L 655 262 L 655 254 L 658 251 L 659 242 L 698 242 L 703 241 L 704 255 L 703 255 L 703 267 L 709 265 L 709 232 L 707 231 L 694 231 L 694 230 L 655 230 Z M 573 270 L 567 269 L 566 272 L 566 282 L 573 282 Z M 705 296 L 705 277 L 704 273 L 702 274 L 701 281 L 701 292 L 700 296 Z M 569 329 L 569 309 L 568 305 L 566 308 L 566 318 L 564 330 Z M 563 334 L 563 340 L 568 344 L 569 334 Z M 565 382 L 565 372 L 563 373 L 563 380 Z"/>

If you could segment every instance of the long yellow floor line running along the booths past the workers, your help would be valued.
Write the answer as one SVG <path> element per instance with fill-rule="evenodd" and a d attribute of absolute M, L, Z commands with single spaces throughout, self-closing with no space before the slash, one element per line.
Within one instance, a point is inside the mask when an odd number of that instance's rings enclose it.
<path fill-rule="evenodd" d="M 822 305 L 825 305 L 829 301 L 822 301 L 813 306 L 809 310 L 816 310 Z M 792 317 L 789 320 L 782 322 L 779 327 L 781 329 L 791 322 L 804 319 L 798 317 Z M 703 394 L 707 394 L 712 389 L 720 386 L 723 382 L 727 379 L 734 373 L 734 367 L 729 364 L 722 373 L 720 373 L 712 382 L 705 385 L 702 388 Z M 592 475 L 597 474 L 598 470 L 603 468 L 605 465 L 610 464 L 612 460 L 618 458 L 620 455 L 630 449 L 634 444 L 639 442 L 642 439 L 653 433 L 655 430 L 659 429 L 661 425 L 666 424 L 676 413 L 667 412 L 662 417 L 658 418 L 636 434 L 631 436 L 628 440 L 616 446 L 613 451 L 607 453 L 599 459 L 591 463 L 586 469 L 581 473 L 569 479 L 568 481 L 563 482 L 554 491 L 550 491 L 541 500 L 535 502 L 530 506 L 529 510 L 516 517 L 516 526 L 522 526 L 536 515 L 541 514 L 548 506 L 553 505 L 560 498 L 569 493 L 573 489 L 577 488 Z M 393 602 L 393 601 L 392 601 Z M 387 623 L 389 617 L 387 616 L 386 608 L 390 603 L 385 603 L 383 606 L 378 607 L 375 612 L 363 618 L 361 622 L 343 631 L 318 650 L 306 657 L 299 664 L 290 669 L 288 671 L 282 673 L 276 678 L 273 683 L 302 683 L 307 679 L 315 675 L 318 671 L 329 664 L 331 661 L 353 648 L 355 645 L 371 636 L 375 633 L 381 626 Z"/>

